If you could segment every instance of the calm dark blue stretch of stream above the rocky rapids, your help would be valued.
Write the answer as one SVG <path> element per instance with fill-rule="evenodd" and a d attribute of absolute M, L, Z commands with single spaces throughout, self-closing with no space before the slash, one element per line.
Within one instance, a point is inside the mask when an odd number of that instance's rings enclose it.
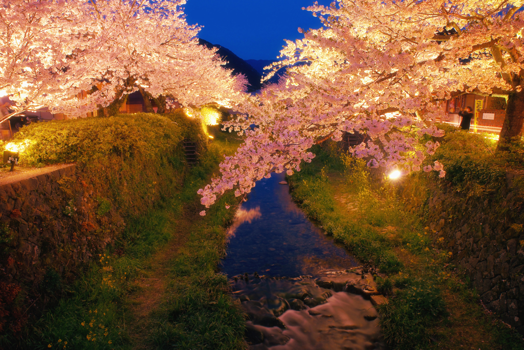
<path fill-rule="evenodd" d="M 228 230 L 230 242 L 222 271 L 232 277 L 254 273 L 297 277 L 320 269 L 357 265 L 343 247 L 326 237 L 293 202 L 285 174 L 257 182 Z"/>

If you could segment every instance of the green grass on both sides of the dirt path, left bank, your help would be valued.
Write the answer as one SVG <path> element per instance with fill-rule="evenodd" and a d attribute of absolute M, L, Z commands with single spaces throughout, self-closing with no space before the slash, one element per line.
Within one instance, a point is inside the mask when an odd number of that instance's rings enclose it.
<path fill-rule="evenodd" d="M 225 137 L 218 137 L 201 156 L 200 164 L 188 171 L 183 184 L 173 183 L 178 186 L 178 190 L 173 189 L 175 195 L 159 200 L 144 215 L 129 219 L 115 245 L 96 257 L 74 283 L 61 285 L 62 298 L 49 303 L 49 309 L 23 334 L 0 337 L 0 348 L 133 348 L 128 332 L 134 320 L 130 319 L 127 301 L 137 290 L 135 280 L 148 269 L 148 258 L 171 239 L 170 226 L 188 219 L 184 218 L 188 215 L 196 224 L 182 252 L 170 262 L 168 299 L 155 312 L 157 326 L 151 330 L 150 344 L 158 348 L 242 348 L 243 314 L 229 293 L 227 279 L 216 273 L 224 253 L 224 225 L 234 215 L 225 209 L 223 201 L 234 203 L 235 199 L 226 196 L 199 220 L 202 208 L 196 194 L 216 171 L 222 154 L 236 149 L 238 140 L 226 143 Z"/>

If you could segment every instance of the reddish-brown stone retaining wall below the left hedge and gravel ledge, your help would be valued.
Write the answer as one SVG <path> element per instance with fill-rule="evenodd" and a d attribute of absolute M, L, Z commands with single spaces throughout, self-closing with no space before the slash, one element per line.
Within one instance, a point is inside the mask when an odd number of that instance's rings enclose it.
<path fill-rule="evenodd" d="M 37 318 L 125 226 L 74 164 L 36 172 L 0 179 L 0 335 Z"/>

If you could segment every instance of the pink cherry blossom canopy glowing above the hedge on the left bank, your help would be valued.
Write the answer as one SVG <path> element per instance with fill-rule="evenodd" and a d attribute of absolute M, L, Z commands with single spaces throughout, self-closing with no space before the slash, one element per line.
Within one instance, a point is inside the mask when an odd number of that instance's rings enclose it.
<path fill-rule="evenodd" d="M 185 22 L 185 0 L 8 0 L 0 6 L 0 90 L 18 109 L 114 114 L 128 93 L 188 106 L 242 100 L 213 50 Z M 94 88 L 93 88 L 94 87 Z M 82 91 L 89 91 L 83 99 Z"/>

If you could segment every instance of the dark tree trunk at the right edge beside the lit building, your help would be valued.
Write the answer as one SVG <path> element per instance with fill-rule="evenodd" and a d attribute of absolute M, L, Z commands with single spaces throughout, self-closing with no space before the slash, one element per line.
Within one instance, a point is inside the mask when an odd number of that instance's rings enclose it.
<path fill-rule="evenodd" d="M 506 144 L 512 137 L 519 136 L 524 122 L 524 89 L 520 92 L 511 92 L 508 96 L 504 125 L 500 131 L 498 151 L 507 149 Z"/>

